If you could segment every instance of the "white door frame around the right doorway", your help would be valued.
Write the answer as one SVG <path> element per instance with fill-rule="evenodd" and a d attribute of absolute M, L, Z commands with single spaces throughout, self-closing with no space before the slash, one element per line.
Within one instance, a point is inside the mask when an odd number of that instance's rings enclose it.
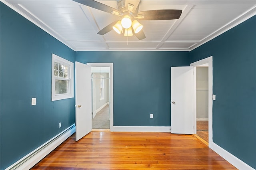
<path fill-rule="evenodd" d="M 200 65 L 208 64 L 208 144 L 209 147 L 211 148 L 213 146 L 213 140 L 212 140 L 212 80 L 213 80 L 213 75 L 212 75 L 212 56 L 207 57 L 205 59 L 201 59 L 199 61 L 196 61 L 194 63 L 191 63 L 190 66 L 193 66 L 194 68 Z M 194 114 L 195 114 L 195 129 L 194 133 L 196 134 L 196 69 L 194 69 Z"/>

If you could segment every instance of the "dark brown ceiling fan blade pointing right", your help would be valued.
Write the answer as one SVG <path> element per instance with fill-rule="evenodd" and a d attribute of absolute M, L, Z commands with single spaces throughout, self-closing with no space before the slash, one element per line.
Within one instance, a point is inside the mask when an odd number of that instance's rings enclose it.
<path fill-rule="evenodd" d="M 182 10 L 141 11 L 141 12 L 138 12 L 138 19 L 140 20 L 175 20 L 180 18 L 181 13 L 182 13 Z"/>

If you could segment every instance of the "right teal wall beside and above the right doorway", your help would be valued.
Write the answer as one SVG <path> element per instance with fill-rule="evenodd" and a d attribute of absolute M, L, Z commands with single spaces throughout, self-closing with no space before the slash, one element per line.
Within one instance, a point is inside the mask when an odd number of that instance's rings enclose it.
<path fill-rule="evenodd" d="M 213 142 L 256 169 L 256 16 L 190 51 L 213 56 Z"/>

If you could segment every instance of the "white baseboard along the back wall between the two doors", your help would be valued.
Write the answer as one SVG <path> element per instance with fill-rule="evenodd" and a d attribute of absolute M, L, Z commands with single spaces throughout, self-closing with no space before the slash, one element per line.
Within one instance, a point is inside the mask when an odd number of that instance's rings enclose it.
<path fill-rule="evenodd" d="M 130 126 L 113 126 L 111 132 L 171 132 L 171 127 L 130 127 Z"/>

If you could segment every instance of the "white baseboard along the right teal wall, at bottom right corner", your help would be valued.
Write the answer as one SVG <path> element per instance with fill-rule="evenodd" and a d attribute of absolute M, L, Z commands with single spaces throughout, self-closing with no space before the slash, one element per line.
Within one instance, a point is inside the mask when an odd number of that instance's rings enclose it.
<path fill-rule="evenodd" d="M 244 163 L 242 160 L 238 159 L 233 154 L 230 154 L 228 151 L 218 146 L 214 142 L 212 142 L 211 144 L 209 143 L 209 148 L 211 148 L 214 152 L 219 154 L 222 158 L 227 160 L 230 164 L 232 164 L 234 167 L 238 168 L 239 170 L 254 170 L 254 168 Z"/>

